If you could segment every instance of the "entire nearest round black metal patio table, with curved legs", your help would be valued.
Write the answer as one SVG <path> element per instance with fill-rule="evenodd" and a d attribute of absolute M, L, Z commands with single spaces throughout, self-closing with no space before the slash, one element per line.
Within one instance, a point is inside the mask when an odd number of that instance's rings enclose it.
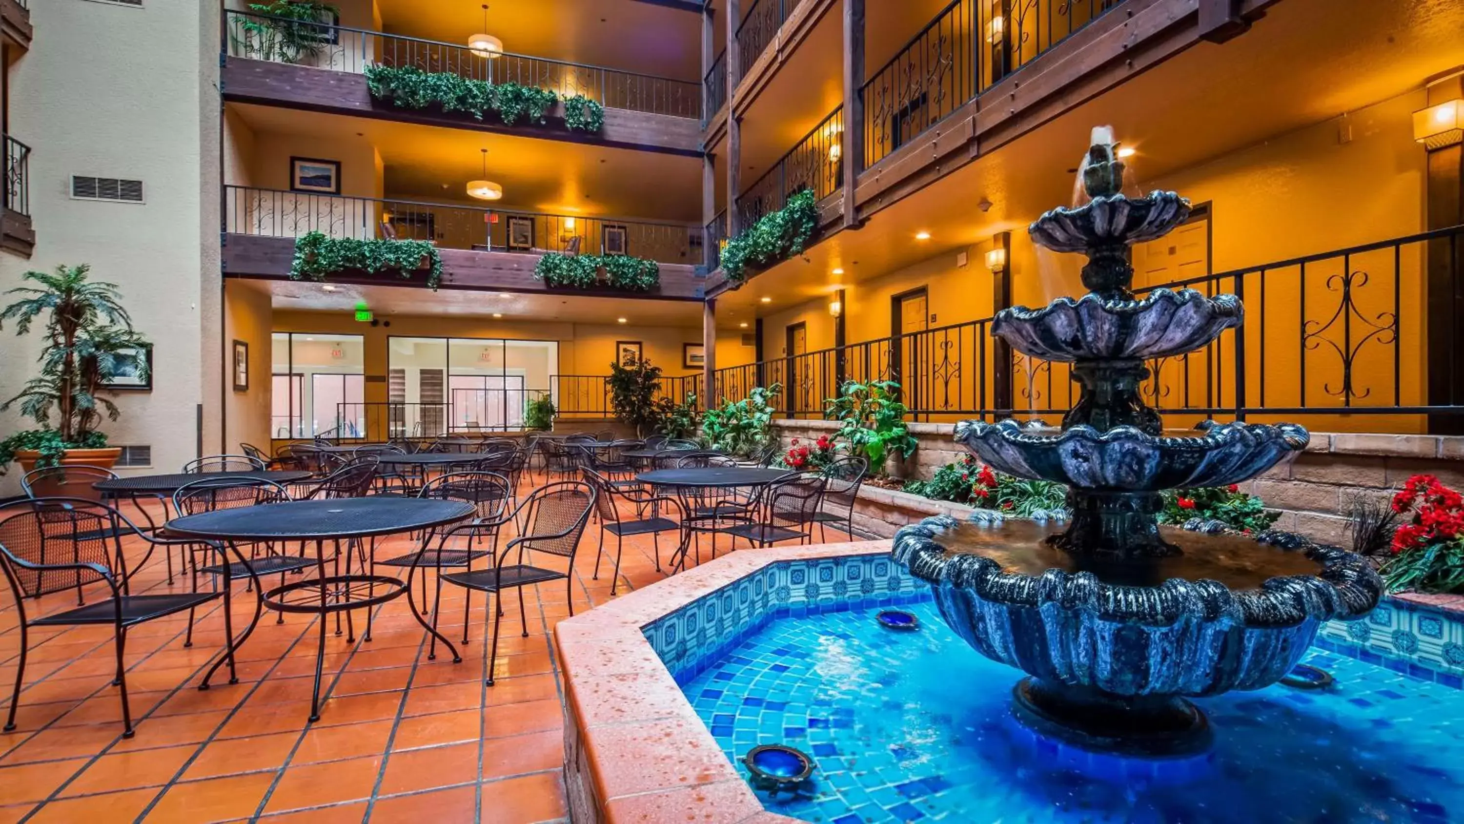
<path fill-rule="evenodd" d="M 255 626 L 264 607 L 277 612 L 316 613 L 321 623 L 321 640 L 315 654 L 315 692 L 310 697 L 310 720 L 321 719 L 321 669 L 325 662 L 325 616 L 346 612 L 347 626 L 350 626 L 350 610 L 369 609 L 403 594 L 411 607 L 411 615 L 432 632 L 439 641 L 447 644 L 432 625 L 417 612 L 411 602 L 407 583 L 389 575 L 372 572 L 351 574 L 351 543 L 365 539 L 391 536 L 410 531 L 422 531 L 423 542 L 432 527 L 441 527 L 471 518 L 474 515 L 471 503 L 461 501 L 436 501 L 419 498 L 331 498 L 322 501 L 288 501 L 284 503 L 269 503 L 264 506 L 243 506 L 237 509 L 217 509 L 176 518 L 165 524 L 165 530 L 174 537 L 198 537 L 227 542 L 236 544 L 262 542 L 302 542 L 315 543 L 316 577 L 264 590 L 259 577 L 249 571 L 255 591 L 259 593 L 259 603 L 249 626 L 236 641 L 239 648 Z M 325 543 L 331 542 L 335 562 L 335 572 L 325 571 Z M 346 572 L 340 574 L 340 559 L 343 556 L 341 542 L 348 542 L 344 552 Z M 370 612 L 366 613 L 366 634 L 370 640 Z M 340 618 L 337 618 L 337 634 L 340 634 Z M 348 641 L 354 641 L 354 628 L 350 629 Z M 448 644 L 448 648 L 452 648 Z M 430 656 L 429 656 L 430 657 Z M 454 662 L 461 660 L 454 651 Z M 218 669 L 218 663 L 203 676 L 203 685 Z"/>

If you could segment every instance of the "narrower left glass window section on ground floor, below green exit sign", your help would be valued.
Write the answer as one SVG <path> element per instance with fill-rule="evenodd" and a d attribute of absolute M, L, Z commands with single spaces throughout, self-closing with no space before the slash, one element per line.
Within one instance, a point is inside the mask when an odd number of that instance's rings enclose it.
<path fill-rule="evenodd" d="M 275 332 L 271 363 L 274 438 L 362 436 L 366 424 L 362 335 Z"/>

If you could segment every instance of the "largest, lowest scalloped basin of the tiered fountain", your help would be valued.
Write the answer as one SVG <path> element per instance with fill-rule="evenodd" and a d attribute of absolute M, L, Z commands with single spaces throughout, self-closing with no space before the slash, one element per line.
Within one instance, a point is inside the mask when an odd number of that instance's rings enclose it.
<path fill-rule="evenodd" d="M 1372 566 L 1337 547 L 1266 547 L 1262 553 L 1274 552 L 1291 574 L 1265 577 L 1250 561 L 1233 563 L 1236 574 L 1252 575 L 1236 583 L 1255 587 L 1231 590 L 1200 577 L 1205 559 L 1193 562 L 1190 580 L 1157 585 L 1110 583 L 1118 575 L 1111 569 L 1031 574 L 1010 556 L 998 562 L 982 555 L 979 546 L 947 550 L 941 542 L 962 540 L 959 528 L 955 518 L 938 515 L 895 537 L 896 562 L 931 584 L 946 623 L 991 660 L 1102 697 L 1259 689 L 1296 666 L 1322 622 L 1359 618 L 1382 596 Z M 1020 544 L 1012 552 L 1020 555 Z M 1026 569 L 1045 563 L 1032 558 Z M 1315 575 L 1304 574 L 1309 565 Z M 1227 575 L 1220 566 L 1209 572 Z"/>

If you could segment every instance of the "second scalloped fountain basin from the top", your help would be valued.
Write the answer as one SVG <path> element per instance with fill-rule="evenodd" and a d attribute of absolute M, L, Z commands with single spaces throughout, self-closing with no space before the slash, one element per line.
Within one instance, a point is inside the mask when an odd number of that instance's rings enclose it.
<path fill-rule="evenodd" d="M 1158 288 L 1142 300 L 1086 294 L 1079 300 L 1060 297 L 1041 309 L 1013 306 L 997 313 L 991 334 L 1041 360 L 1149 360 L 1202 348 L 1239 326 L 1243 316 L 1233 294 Z"/>

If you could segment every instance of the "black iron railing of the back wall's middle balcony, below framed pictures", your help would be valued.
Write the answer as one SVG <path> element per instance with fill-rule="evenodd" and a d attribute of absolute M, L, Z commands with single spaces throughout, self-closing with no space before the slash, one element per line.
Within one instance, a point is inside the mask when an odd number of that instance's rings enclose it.
<path fill-rule="evenodd" d="M 442 249 L 476 252 L 615 252 L 659 263 L 697 265 L 703 227 L 224 186 L 224 231 L 432 240 Z"/>

